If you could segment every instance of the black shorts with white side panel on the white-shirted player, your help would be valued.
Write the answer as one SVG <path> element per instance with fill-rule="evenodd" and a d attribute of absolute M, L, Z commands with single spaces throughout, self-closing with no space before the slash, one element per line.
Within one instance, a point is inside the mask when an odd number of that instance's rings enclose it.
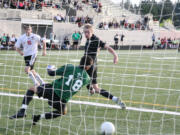
<path fill-rule="evenodd" d="M 30 67 L 31 70 L 33 70 L 33 68 L 34 68 L 34 64 L 35 64 L 35 61 L 36 61 L 36 56 L 37 55 L 34 54 L 34 55 L 24 57 L 25 65 Z"/>

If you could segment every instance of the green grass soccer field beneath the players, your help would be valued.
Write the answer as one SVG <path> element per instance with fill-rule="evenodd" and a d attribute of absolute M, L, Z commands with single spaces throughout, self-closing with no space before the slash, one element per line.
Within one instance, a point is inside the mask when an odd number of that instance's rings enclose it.
<path fill-rule="evenodd" d="M 98 56 L 100 87 L 120 97 L 128 107 L 180 114 L 180 54 L 176 50 L 118 51 L 119 63 L 101 51 Z M 35 69 L 46 82 L 48 64 L 78 64 L 83 51 L 39 53 Z M 0 51 L 0 93 L 24 95 L 32 85 L 24 73 L 24 60 L 15 51 Z M 83 88 L 72 100 L 115 105 L 100 95 L 90 96 Z M 10 120 L 21 106 L 21 97 L 0 96 L 0 135 L 99 135 L 100 125 L 111 121 L 115 134 L 180 134 L 180 115 L 121 110 L 108 107 L 68 104 L 68 113 L 54 120 L 41 120 L 32 126 L 32 114 L 51 109 L 47 101 L 34 99 L 24 119 Z"/>

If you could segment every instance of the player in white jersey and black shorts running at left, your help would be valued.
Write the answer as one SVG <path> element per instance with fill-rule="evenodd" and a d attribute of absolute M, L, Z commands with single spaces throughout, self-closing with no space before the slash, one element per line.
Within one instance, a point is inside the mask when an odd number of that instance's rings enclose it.
<path fill-rule="evenodd" d="M 38 73 L 35 72 L 34 64 L 36 60 L 36 56 L 38 53 L 38 44 L 40 44 L 41 38 L 39 35 L 32 33 L 32 27 L 28 26 L 26 28 L 26 33 L 19 37 L 17 40 L 15 47 L 16 51 L 24 56 L 25 60 L 25 72 L 32 79 L 35 86 L 39 84 L 44 84 L 44 81 L 40 77 Z M 43 42 L 43 56 L 46 55 L 46 41 Z M 21 51 L 21 46 L 23 47 L 23 51 Z"/>

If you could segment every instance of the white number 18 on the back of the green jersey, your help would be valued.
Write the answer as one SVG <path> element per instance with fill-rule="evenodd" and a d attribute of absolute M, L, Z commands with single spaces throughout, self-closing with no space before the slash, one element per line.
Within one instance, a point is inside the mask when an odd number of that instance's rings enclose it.
<path fill-rule="evenodd" d="M 68 81 L 65 83 L 67 86 L 69 86 L 71 80 L 73 79 L 73 75 L 69 75 Z M 73 91 L 78 91 L 83 85 L 82 80 L 76 80 L 74 85 L 72 86 Z"/>

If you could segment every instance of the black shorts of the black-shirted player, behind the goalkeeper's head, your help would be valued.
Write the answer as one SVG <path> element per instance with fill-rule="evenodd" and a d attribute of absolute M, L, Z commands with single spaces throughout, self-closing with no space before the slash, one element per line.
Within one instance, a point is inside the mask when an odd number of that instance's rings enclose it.
<path fill-rule="evenodd" d="M 88 75 L 91 78 L 91 84 L 97 84 L 97 64 L 93 64 L 89 70 L 87 70 Z"/>

